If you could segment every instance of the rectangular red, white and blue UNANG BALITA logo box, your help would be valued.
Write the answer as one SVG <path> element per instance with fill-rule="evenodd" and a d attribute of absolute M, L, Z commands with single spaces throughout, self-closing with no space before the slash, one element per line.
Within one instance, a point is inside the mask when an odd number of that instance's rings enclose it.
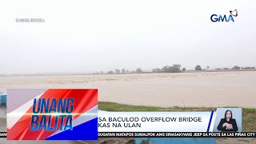
<path fill-rule="evenodd" d="M 97 140 L 98 90 L 7 90 L 7 140 Z"/>

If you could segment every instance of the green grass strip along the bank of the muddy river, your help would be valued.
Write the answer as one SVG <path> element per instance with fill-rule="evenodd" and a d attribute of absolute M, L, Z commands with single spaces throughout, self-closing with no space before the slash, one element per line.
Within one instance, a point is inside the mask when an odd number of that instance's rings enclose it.
<path fill-rule="evenodd" d="M 210 111 L 217 107 L 155 107 L 131 106 L 115 102 L 99 102 L 99 110 L 106 111 Z M 256 109 L 242 108 L 242 131 L 256 131 Z"/>

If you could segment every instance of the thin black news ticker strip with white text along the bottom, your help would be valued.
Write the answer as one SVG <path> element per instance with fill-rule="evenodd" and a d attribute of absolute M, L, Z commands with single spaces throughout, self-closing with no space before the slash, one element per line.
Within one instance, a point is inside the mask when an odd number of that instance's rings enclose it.
<path fill-rule="evenodd" d="M 6 138 L 0 132 L 0 138 Z M 98 138 L 256 138 L 256 132 L 98 132 Z"/>

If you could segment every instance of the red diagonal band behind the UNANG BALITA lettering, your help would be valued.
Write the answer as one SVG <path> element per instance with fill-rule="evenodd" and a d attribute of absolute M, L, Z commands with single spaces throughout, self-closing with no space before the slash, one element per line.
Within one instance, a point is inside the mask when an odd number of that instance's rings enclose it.
<path fill-rule="evenodd" d="M 72 120 L 78 118 L 80 114 L 85 113 L 87 110 L 90 110 L 93 106 L 98 104 L 98 90 L 88 89 L 88 90 L 79 90 L 79 89 L 50 89 L 46 90 L 40 98 L 74 98 L 74 111 L 76 115 L 72 116 Z M 26 111 L 26 114 L 18 120 L 17 123 L 11 129 L 7 129 L 8 137 L 7 139 L 11 140 L 26 140 L 26 139 L 37 139 L 44 140 L 49 137 L 51 134 L 54 134 L 55 131 L 31 131 L 30 122 L 33 106 Z M 42 115 L 39 115 L 40 119 Z M 55 116 L 51 117 L 51 121 L 54 121 Z M 58 130 L 60 128 L 60 122 L 58 122 Z"/>

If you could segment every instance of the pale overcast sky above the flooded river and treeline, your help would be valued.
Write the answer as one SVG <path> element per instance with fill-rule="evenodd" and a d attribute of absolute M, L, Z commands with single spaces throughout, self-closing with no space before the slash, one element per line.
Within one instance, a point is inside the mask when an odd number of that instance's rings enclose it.
<path fill-rule="evenodd" d="M 254 0 L 1 1 L 0 74 L 255 66 L 255 6 Z M 234 22 L 210 21 L 234 9 Z"/>

